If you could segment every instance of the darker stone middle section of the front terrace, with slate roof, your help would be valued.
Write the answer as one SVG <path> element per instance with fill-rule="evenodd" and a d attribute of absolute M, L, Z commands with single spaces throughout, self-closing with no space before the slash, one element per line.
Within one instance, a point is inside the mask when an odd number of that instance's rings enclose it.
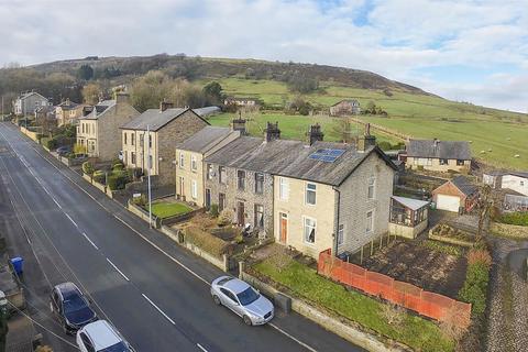
<path fill-rule="evenodd" d="M 250 223 L 273 234 L 273 183 L 285 166 L 285 154 L 302 142 L 279 140 L 276 123 L 268 123 L 266 138 L 241 136 L 206 157 L 206 198 L 219 210 L 233 212 L 233 222 Z"/>

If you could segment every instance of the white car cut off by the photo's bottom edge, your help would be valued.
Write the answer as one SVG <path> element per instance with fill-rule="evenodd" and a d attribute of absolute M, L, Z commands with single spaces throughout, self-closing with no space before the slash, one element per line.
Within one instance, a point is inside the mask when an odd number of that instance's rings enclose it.
<path fill-rule="evenodd" d="M 97 320 L 77 331 L 81 352 L 133 352 L 134 349 L 107 321 Z"/>

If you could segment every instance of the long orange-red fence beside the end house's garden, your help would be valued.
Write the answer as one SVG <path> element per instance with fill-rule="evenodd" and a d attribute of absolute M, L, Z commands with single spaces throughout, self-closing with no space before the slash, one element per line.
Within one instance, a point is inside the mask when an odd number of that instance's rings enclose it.
<path fill-rule="evenodd" d="M 319 254 L 317 271 L 333 280 L 411 309 L 422 316 L 439 321 L 449 320 L 462 328 L 470 324 L 470 304 L 430 293 L 411 284 L 398 282 L 389 276 L 343 262 L 331 255 L 330 250 Z"/>

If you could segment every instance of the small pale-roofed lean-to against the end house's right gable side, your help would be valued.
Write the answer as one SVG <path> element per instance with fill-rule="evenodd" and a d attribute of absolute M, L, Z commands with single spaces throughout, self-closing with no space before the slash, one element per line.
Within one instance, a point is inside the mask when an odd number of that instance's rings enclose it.
<path fill-rule="evenodd" d="M 391 197 L 388 231 L 391 234 L 415 239 L 429 223 L 429 201 Z"/>

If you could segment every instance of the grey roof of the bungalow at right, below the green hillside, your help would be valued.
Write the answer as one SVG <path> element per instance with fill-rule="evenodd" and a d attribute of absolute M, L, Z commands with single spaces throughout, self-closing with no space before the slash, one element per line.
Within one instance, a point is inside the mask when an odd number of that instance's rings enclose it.
<path fill-rule="evenodd" d="M 465 141 L 410 140 L 407 156 L 470 161 L 471 151 Z"/>

